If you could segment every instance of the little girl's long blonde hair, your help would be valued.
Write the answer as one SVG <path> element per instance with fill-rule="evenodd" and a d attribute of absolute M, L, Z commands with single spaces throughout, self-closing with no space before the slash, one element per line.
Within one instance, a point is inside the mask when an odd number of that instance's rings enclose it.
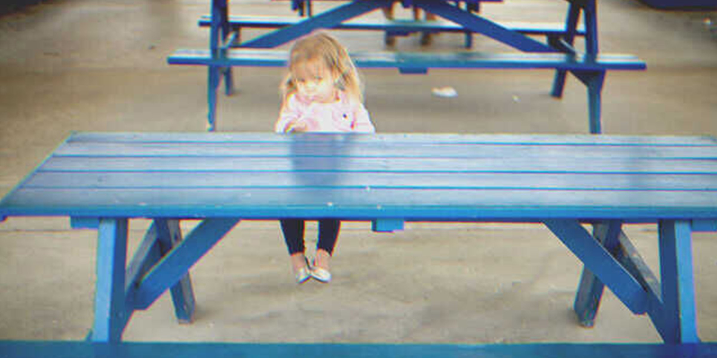
<path fill-rule="evenodd" d="M 329 34 L 318 32 L 298 39 L 289 54 L 289 74 L 281 84 L 282 102 L 297 91 L 295 74 L 311 71 L 311 64 L 328 69 L 336 79 L 337 89 L 345 91 L 353 100 L 364 102 L 361 79 L 356 66 L 348 57 L 346 47 Z M 315 67 L 313 67 L 315 70 Z"/>

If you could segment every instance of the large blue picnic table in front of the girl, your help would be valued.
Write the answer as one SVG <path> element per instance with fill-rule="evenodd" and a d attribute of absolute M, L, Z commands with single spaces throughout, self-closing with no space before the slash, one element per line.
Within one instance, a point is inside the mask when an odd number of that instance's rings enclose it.
<path fill-rule="evenodd" d="M 585 265 L 574 302 L 583 325 L 607 286 L 666 344 L 699 344 L 691 233 L 717 231 L 717 140 L 78 132 L 0 201 L 9 216 L 97 229 L 92 342 L 120 342 L 133 312 L 166 291 L 191 321 L 189 269 L 239 221 L 340 218 L 374 231 L 542 223 Z M 153 224 L 125 265 L 133 218 Z M 184 219 L 201 223 L 182 233 Z M 622 231 L 644 223 L 658 227 L 658 274 Z"/>

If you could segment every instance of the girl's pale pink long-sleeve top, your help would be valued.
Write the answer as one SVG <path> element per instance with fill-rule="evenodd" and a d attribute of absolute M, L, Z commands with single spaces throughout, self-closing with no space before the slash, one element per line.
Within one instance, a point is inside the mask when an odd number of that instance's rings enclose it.
<path fill-rule="evenodd" d="M 298 93 L 290 95 L 274 130 L 286 132 L 290 122 L 296 120 L 306 123 L 307 132 L 376 132 L 366 107 L 343 91 L 332 103 L 310 102 Z"/>

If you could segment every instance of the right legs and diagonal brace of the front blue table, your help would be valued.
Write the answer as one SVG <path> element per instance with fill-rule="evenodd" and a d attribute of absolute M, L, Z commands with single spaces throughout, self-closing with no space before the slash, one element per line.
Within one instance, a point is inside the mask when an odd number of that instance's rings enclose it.
<path fill-rule="evenodd" d="M 622 232 L 619 221 L 597 223 L 592 237 L 576 222 L 546 221 L 546 226 L 585 263 L 574 304 L 583 326 L 594 324 L 607 285 L 633 313 L 647 313 L 665 343 L 699 342 L 690 221 L 658 223 L 661 280 Z M 592 262 L 593 256 L 605 254 L 612 256 L 614 264 L 606 265 L 604 259 Z"/>

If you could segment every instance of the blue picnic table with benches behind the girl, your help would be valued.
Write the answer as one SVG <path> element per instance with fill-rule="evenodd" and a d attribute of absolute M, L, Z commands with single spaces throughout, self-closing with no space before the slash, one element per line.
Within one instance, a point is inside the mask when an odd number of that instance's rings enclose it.
<path fill-rule="evenodd" d="M 293 0 L 302 9 L 308 0 Z M 566 75 L 571 73 L 587 87 L 589 132 L 602 132 L 602 88 L 608 70 L 642 70 L 645 62 L 629 55 L 599 54 L 597 0 L 568 0 L 565 20 L 558 24 L 509 24 L 493 21 L 475 10 L 488 0 L 403 0 L 436 14 L 442 21 L 356 21 L 355 18 L 392 6 L 397 0 L 353 0 L 305 18 L 280 19 L 277 16 L 230 16 L 227 0 L 212 0 L 212 13 L 200 19 L 208 26 L 209 47 L 180 49 L 171 54 L 169 64 L 201 65 L 209 69 L 207 129 L 216 128 L 217 89 L 224 80 L 227 95 L 234 91 L 233 66 L 285 66 L 288 54 L 276 49 L 317 29 L 383 30 L 386 34 L 412 32 L 465 32 L 466 47 L 473 34 L 482 34 L 516 51 L 501 54 L 458 52 L 351 52 L 359 67 L 397 68 L 402 73 L 425 74 L 430 68 L 457 69 L 554 69 L 551 95 L 562 97 Z M 490 0 L 494 1 L 494 0 Z M 462 6 L 464 4 L 465 6 Z M 582 19 L 582 24 L 580 20 Z M 273 29 L 254 39 L 242 39 L 242 27 Z M 545 41 L 536 39 L 544 35 Z M 584 49 L 575 47 L 576 37 L 584 37 Z M 559 55 L 556 58 L 556 55 Z M 276 59 L 281 59 L 276 61 Z"/>

